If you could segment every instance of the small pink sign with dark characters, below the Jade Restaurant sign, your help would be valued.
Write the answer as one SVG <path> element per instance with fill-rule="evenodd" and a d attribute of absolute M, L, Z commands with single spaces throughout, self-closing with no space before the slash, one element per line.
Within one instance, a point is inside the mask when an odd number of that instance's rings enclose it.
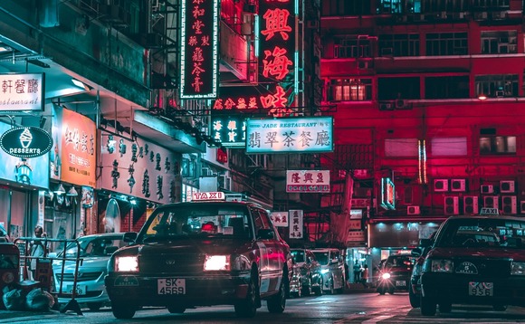
<path fill-rule="evenodd" d="M 329 193 L 329 170 L 287 170 L 287 193 Z"/>

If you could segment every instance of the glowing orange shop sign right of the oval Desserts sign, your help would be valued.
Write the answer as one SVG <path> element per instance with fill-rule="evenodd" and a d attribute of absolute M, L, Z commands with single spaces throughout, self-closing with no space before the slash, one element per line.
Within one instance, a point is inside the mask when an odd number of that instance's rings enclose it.
<path fill-rule="evenodd" d="M 97 185 L 97 126 L 78 112 L 53 106 L 51 177 L 79 186 Z"/>

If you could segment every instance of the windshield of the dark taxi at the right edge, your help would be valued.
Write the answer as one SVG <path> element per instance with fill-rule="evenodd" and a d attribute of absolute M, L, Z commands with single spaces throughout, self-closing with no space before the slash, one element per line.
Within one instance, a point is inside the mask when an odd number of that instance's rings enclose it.
<path fill-rule="evenodd" d="M 522 249 L 525 220 L 504 218 L 453 219 L 444 226 L 436 246 Z"/>

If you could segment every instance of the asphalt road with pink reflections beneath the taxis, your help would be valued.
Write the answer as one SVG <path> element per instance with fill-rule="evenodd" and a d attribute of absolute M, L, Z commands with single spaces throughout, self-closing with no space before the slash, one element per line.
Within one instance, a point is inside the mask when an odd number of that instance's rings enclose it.
<path fill-rule="evenodd" d="M 3 316 L 4 315 L 4 316 Z M 91 311 L 82 309 L 82 315 L 66 313 L 29 313 L 6 318 L 0 312 L 0 323 L 516 323 L 525 322 L 525 309 L 509 307 L 499 312 L 487 307 L 453 307 L 453 311 L 434 317 L 421 316 L 419 309 L 412 309 L 405 292 L 394 295 L 377 293 L 352 293 L 302 297 L 287 301 L 282 314 L 271 314 L 263 303 L 254 319 L 238 319 L 232 306 L 203 307 L 186 310 L 184 314 L 170 314 L 165 309 L 138 310 L 133 319 L 113 318 L 110 309 Z"/>

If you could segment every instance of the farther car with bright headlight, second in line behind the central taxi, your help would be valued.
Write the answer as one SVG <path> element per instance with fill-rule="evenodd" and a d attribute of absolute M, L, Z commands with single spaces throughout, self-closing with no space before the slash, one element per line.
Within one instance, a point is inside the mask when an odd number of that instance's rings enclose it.
<path fill-rule="evenodd" d="M 338 249 L 314 249 L 311 252 L 321 266 L 322 291 L 329 291 L 334 294 L 345 290 L 345 264 Z"/>

